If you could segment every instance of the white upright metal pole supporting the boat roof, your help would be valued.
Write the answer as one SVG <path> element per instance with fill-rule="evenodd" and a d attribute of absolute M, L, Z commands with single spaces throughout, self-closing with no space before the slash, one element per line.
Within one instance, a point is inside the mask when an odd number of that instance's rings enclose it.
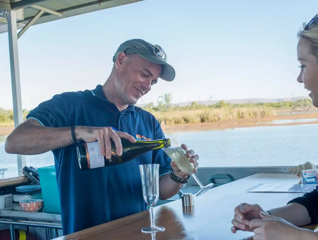
<path fill-rule="evenodd" d="M 14 127 L 16 128 L 23 122 L 21 86 L 20 86 L 20 69 L 18 55 L 18 38 L 17 38 L 17 13 L 15 10 L 10 10 L 7 13 L 8 35 L 9 35 L 9 55 L 10 55 L 10 70 L 11 70 L 11 85 L 13 99 L 13 115 Z M 25 157 L 17 155 L 18 174 L 23 175 L 23 167 L 26 166 Z"/>

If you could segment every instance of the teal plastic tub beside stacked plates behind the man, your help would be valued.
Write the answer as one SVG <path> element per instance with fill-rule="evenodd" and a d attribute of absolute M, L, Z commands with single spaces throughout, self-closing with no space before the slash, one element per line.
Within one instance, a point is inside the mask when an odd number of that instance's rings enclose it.
<path fill-rule="evenodd" d="M 44 211 L 47 213 L 61 213 L 59 191 L 56 183 L 55 166 L 38 168 Z"/>

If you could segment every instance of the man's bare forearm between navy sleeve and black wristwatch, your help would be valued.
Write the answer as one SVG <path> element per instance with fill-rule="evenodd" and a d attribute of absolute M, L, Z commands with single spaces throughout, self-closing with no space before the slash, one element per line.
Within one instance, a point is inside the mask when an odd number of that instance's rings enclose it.
<path fill-rule="evenodd" d="M 166 200 L 175 196 L 181 189 L 182 184 L 174 182 L 169 173 L 160 176 L 159 178 L 159 199 Z"/>

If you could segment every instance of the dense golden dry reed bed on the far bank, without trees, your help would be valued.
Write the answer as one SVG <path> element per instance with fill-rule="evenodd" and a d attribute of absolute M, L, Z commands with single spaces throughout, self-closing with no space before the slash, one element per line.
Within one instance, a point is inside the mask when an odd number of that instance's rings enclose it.
<path fill-rule="evenodd" d="M 275 111 L 271 107 L 206 108 L 197 110 L 169 110 L 164 112 L 152 110 L 151 113 L 160 123 L 164 124 L 209 123 L 231 119 L 262 118 L 275 115 Z"/>

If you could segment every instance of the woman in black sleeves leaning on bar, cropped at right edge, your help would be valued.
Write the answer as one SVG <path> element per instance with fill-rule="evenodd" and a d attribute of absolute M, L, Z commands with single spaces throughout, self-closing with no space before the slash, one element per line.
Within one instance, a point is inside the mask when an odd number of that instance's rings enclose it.
<path fill-rule="evenodd" d="M 298 33 L 297 57 L 301 71 L 297 78 L 310 90 L 318 107 L 318 14 Z M 253 231 L 254 240 L 318 240 L 318 232 L 298 226 L 318 223 L 317 188 L 286 206 L 265 211 L 257 204 L 241 203 L 234 210 L 232 232 Z"/>

